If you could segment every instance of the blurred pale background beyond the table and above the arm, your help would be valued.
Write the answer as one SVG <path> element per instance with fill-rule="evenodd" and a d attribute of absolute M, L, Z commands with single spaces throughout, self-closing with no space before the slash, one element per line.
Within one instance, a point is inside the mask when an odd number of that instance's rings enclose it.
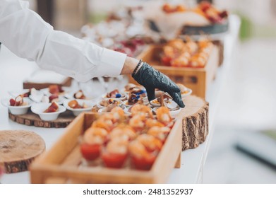
<path fill-rule="evenodd" d="M 186 1 L 187 3 L 188 1 Z M 30 1 L 56 30 L 80 37 L 87 23 L 98 23 L 110 11 L 130 0 L 39 0 Z M 276 0 L 217 0 L 213 3 L 241 18 L 239 43 L 221 95 L 210 151 L 205 162 L 203 183 L 276 183 L 276 141 L 263 140 L 276 130 Z M 254 138 L 256 136 L 256 138 Z M 244 152 L 244 142 L 272 155 L 266 160 Z M 274 147 L 273 147 L 274 145 Z M 260 154 L 265 155 L 265 154 Z M 260 156 L 259 155 L 259 156 Z M 272 160 L 270 160 L 270 159 Z"/>

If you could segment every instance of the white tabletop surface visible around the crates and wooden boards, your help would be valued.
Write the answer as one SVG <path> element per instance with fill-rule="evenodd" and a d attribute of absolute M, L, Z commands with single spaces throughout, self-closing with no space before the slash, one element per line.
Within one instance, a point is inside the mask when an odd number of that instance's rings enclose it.
<path fill-rule="evenodd" d="M 181 168 L 172 170 L 168 183 L 200 183 L 203 182 L 203 170 L 208 148 L 215 129 L 216 111 L 220 105 L 220 90 L 231 65 L 232 51 L 239 33 L 240 20 L 237 16 L 229 17 L 229 33 L 222 35 L 224 43 L 224 63 L 217 71 L 215 81 L 212 82 L 207 91 L 206 100 L 210 103 L 209 134 L 208 138 L 198 148 L 190 149 L 181 153 Z M 22 88 L 25 78 L 30 76 L 37 66 L 33 62 L 16 57 L 6 47 L 1 47 L 0 52 L 0 98 L 8 98 L 8 91 Z M 16 71 L 16 72 L 15 72 Z M 3 129 L 23 129 L 35 132 L 42 136 L 46 144 L 46 150 L 51 148 L 54 142 L 64 133 L 64 129 L 46 129 L 40 127 L 29 127 L 18 124 L 8 119 L 8 110 L 0 105 L 0 127 Z M 29 172 L 5 174 L 1 183 L 30 183 Z"/>

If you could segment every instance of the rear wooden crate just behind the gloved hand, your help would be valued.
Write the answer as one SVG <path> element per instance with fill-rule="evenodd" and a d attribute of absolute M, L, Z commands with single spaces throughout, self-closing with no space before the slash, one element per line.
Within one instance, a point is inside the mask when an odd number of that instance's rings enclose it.
<path fill-rule="evenodd" d="M 212 52 L 204 68 L 176 68 L 172 66 L 162 66 L 160 62 L 160 53 L 163 45 L 148 46 L 137 59 L 143 59 L 155 69 L 169 76 L 176 83 L 183 83 L 193 90 L 193 95 L 205 98 L 209 84 L 215 78 L 217 67 L 219 65 L 219 52 L 217 45 L 212 47 Z M 131 83 L 137 83 L 131 75 L 128 76 Z"/>

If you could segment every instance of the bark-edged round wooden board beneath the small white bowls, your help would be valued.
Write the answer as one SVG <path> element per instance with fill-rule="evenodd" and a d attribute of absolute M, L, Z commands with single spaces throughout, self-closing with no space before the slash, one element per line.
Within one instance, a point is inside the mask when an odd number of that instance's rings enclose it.
<path fill-rule="evenodd" d="M 75 119 L 73 113 L 68 110 L 61 113 L 61 115 L 53 121 L 41 120 L 38 115 L 32 113 L 30 110 L 24 115 L 13 115 L 11 112 L 8 112 L 8 117 L 19 124 L 44 128 L 64 128 Z"/>

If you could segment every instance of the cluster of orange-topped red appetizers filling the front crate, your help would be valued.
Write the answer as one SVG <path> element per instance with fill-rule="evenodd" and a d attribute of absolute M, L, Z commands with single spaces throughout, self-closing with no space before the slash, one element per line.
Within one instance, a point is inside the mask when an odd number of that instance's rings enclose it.
<path fill-rule="evenodd" d="M 107 168 L 150 170 L 174 121 L 166 107 L 157 112 L 157 118 L 148 106 L 133 105 L 131 109 L 130 117 L 115 107 L 92 122 L 80 144 L 85 160 Z"/>

